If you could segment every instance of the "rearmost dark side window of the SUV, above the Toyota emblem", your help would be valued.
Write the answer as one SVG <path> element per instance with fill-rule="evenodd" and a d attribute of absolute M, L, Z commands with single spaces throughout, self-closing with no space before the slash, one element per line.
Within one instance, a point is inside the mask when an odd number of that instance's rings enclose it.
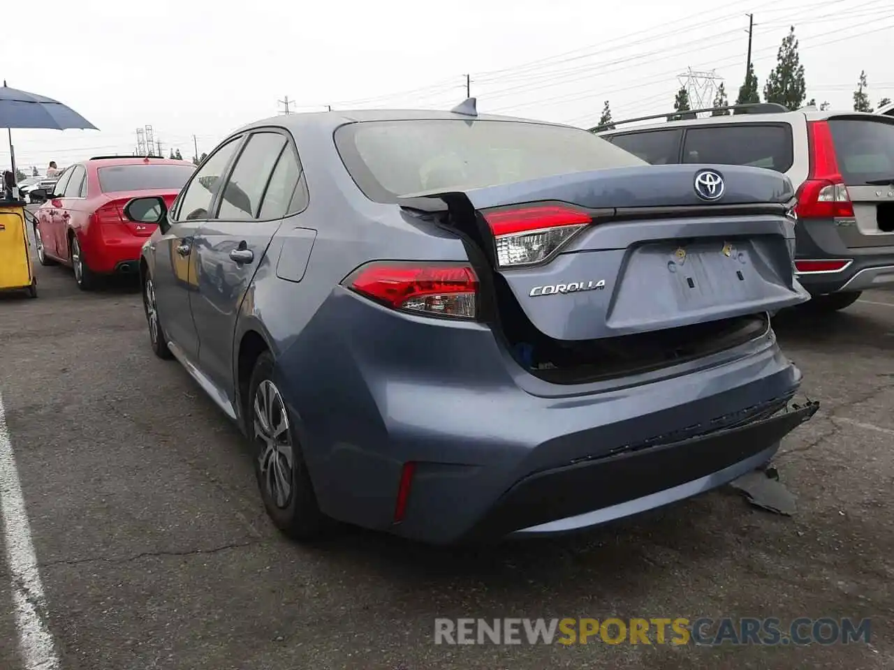
<path fill-rule="evenodd" d="M 788 124 L 691 127 L 683 144 L 683 163 L 749 165 L 788 172 L 793 162 Z"/>

